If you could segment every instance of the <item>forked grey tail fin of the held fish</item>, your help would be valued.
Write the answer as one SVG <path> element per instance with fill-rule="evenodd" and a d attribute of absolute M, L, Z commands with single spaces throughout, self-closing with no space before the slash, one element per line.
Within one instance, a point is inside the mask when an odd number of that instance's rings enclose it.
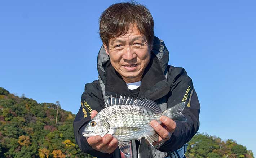
<path fill-rule="evenodd" d="M 163 112 L 163 114 L 173 120 L 176 121 L 184 121 L 186 122 L 187 119 L 185 116 L 181 113 L 185 108 L 185 103 L 181 102 Z"/>

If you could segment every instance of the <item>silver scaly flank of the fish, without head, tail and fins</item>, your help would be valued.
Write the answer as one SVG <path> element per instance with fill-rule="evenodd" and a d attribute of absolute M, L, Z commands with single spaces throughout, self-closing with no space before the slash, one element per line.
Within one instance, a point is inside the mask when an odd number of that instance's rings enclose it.
<path fill-rule="evenodd" d="M 134 131 L 134 128 L 122 129 L 123 132 L 121 130 L 120 135 L 113 135 L 119 141 L 127 141 L 151 134 L 153 128 L 150 126 L 150 121 L 155 119 L 160 122 L 160 115 L 154 114 L 146 107 L 134 105 L 113 105 L 102 115 L 107 116 L 108 122 L 112 125 L 110 128 L 134 127 L 138 129 L 138 131 Z"/>

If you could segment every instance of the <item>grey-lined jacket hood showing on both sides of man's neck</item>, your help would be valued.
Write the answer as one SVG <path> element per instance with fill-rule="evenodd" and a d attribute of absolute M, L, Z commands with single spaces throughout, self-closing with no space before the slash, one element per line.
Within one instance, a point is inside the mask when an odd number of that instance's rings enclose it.
<path fill-rule="evenodd" d="M 160 67 L 164 72 L 168 66 L 169 52 L 164 44 L 164 41 L 159 39 L 156 36 L 154 36 L 152 52 L 158 58 Z M 105 77 L 106 77 L 105 64 L 107 63 L 108 60 L 109 60 L 109 56 L 107 55 L 104 49 L 104 46 L 102 45 L 98 53 L 97 69 L 98 69 L 99 76 L 103 82 L 105 82 Z"/>

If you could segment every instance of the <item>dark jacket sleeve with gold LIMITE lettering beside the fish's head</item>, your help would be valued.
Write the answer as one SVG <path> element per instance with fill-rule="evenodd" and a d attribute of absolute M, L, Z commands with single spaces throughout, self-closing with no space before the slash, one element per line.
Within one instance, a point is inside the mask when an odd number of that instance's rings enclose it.
<path fill-rule="evenodd" d="M 81 106 L 76 114 L 75 120 L 73 122 L 74 135 L 76 143 L 82 152 L 88 153 L 96 157 L 106 157 L 111 158 L 112 154 L 102 153 L 97 150 L 92 149 L 88 144 L 85 137 L 83 137 L 82 132 L 89 121 L 91 121 L 91 111 L 96 110 L 100 112 L 103 109 L 104 101 L 102 98 L 102 92 L 98 81 L 93 83 L 88 83 L 85 85 L 85 91 L 81 97 Z"/>

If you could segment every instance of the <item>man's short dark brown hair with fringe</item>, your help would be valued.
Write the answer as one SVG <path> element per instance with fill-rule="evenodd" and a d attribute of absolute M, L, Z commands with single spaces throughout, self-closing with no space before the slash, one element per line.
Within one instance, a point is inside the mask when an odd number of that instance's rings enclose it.
<path fill-rule="evenodd" d="M 100 37 L 109 46 L 109 39 L 123 36 L 134 24 L 149 45 L 154 39 L 154 20 L 149 10 L 134 1 L 116 3 L 107 8 L 99 19 Z"/>

